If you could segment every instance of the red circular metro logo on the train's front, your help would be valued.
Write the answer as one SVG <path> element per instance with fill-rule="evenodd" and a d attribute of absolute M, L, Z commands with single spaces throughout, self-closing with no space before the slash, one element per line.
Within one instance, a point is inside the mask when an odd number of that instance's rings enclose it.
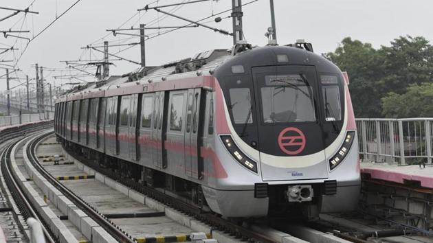
<path fill-rule="evenodd" d="M 304 132 L 298 128 L 285 128 L 278 135 L 278 146 L 282 152 L 289 155 L 296 155 L 302 152 L 305 148 L 305 135 Z"/>

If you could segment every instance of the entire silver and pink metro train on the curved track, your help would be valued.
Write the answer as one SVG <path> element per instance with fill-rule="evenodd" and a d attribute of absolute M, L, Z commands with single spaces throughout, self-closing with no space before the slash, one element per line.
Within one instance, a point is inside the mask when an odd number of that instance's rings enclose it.
<path fill-rule="evenodd" d="M 226 218 L 350 211 L 348 76 L 309 43 L 213 49 L 56 100 L 64 148 Z"/>

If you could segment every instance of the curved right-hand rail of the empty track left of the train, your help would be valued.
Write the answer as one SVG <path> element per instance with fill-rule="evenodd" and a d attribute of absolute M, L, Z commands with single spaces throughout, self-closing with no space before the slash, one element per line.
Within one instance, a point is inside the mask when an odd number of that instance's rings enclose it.
<path fill-rule="evenodd" d="M 29 146 L 27 146 L 27 151 L 25 152 L 27 153 L 27 157 L 30 159 L 30 163 L 34 165 L 36 170 L 38 170 L 38 172 L 40 172 L 47 179 L 47 181 L 49 181 L 49 183 L 54 185 L 54 187 L 56 187 L 60 192 L 62 192 L 78 208 L 87 213 L 89 217 L 95 220 L 102 228 L 104 228 L 111 236 L 113 236 L 113 238 L 120 242 L 135 242 L 131 235 L 129 235 L 125 231 L 122 231 L 122 229 L 116 226 L 111 220 L 109 220 L 102 213 L 97 211 L 94 207 L 89 205 L 89 203 L 85 202 L 85 200 L 80 198 L 80 196 L 76 195 L 65 185 L 57 181 L 54 176 L 49 174 L 49 172 L 47 172 L 45 168 L 43 168 L 36 156 L 36 148 L 38 146 L 38 143 L 49 135 L 52 135 L 52 132 L 47 132 L 43 135 L 36 137 L 35 139 L 32 139 Z"/>

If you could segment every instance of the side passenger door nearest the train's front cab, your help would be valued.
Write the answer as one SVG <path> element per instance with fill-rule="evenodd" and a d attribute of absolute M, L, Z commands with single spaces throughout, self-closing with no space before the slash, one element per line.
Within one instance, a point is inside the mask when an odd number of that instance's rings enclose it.
<path fill-rule="evenodd" d="M 185 172 L 193 178 L 201 178 L 203 160 L 201 159 L 201 139 L 203 137 L 204 96 L 201 89 L 188 91 L 185 131 Z"/>

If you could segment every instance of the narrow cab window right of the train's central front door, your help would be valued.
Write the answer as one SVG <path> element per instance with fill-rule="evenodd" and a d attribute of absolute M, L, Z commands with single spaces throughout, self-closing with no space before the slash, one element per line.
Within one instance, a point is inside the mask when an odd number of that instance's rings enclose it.
<path fill-rule="evenodd" d="M 342 107 L 340 101 L 340 87 L 337 85 L 322 86 L 323 105 L 326 121 L 340 121 Z"/>

